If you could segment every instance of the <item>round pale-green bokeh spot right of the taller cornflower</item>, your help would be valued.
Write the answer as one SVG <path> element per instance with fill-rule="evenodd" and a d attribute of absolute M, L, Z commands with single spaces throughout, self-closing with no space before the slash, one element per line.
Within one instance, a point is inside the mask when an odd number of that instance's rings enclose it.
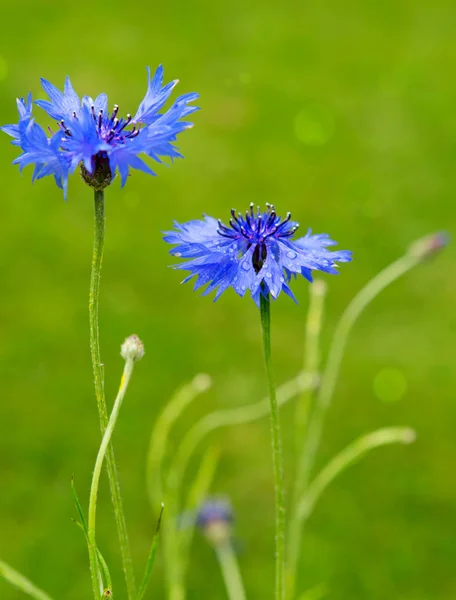
<path fill-rule="evenodd" d="M 334 114 L 324 104 L 308 104 L 297 114 L 294 130 L 306 146 L 324 146 L 334 135 Z"/>

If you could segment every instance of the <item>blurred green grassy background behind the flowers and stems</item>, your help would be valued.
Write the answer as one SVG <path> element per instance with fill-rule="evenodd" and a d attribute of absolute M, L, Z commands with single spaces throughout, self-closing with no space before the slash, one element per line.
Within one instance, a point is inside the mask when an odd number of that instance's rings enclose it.
<path fill-rule="evenodd" d="M 369 278 L 415 238 L 454 230 L 456 7 L 453 0 L 24 0 L 2 3 L 2 17 L 2 123 L 17 120 L 17 96 L 43 97 L 39 77 L 62 87 L 68 74 L 80 94 L 106 91 L 122 114 L 144 95 L 146 65 L 163 63 L 167 81 L 181 80 L 178 93 L 201 94 L 196 126 L 179 139 L 185 160 L 157 167 L 157 178 L 133 172 L 124 190 L 115 182 L 106 194 L 108 398 L 124 337 L 138 333 L 146 345 L 115 433 L 139 576 L 157 516 L 146 498 L 145 453 L 167 398 L 197 372 L 213 377 L 186 428 L 212 408 L 253 402 L 266 390 L 253 302 L 230 292 L 212 304 L 180 287 L 160 231 L 173 219 L 226 217 L 254 201 L 292 211 L 303 230 L 329 232 L 354 261 L 326 278 L 326 350 L 337 318 Z M 90 579 L 85 542 L 70 520 L 70 477 L 85 502 L 99 441 L 87 326 L 92 194 L 77 175 L 68 203 L 50 178 L 32 186 L 31 169 L 21 178 L 11 164 L 17 150 L 8 141 L 3 135 L 0 144 L 0 556 L 55 598 L 80 600 L 90 597 Z M 389 288 L 350 339 L 319 464 L 379 426 L 411 425 L 418 440 L 376 451 L 331 486 L 306 530 L 302 589 L 324 583 L 331 600 L 456 597 L 454 259 L 450 245 Z M 299 306 L 281 297 L 273 307 L 279 381 L 302 360 L 307 284 L 294 289 Z M 386 378 L 379 391 L 375 382 L 390 369 L 400 385 Z M 291 406 L 282 424 L 291 440 Z M 216 443 L 213 491 L 236 509 L 249 597 L 271 597 L 268 423 L 223 430 Z M 118 568 L 106 486 L 99 507 L 98 539 Z M 123 589 L 119 573 L 117 582 Z M 190 599 L 226 597 L 201 538 L 189 587 Z M 2 600 L 22 597 L 0 581 Z M 160 563 L 149 597 L 164 598 Z"/>

